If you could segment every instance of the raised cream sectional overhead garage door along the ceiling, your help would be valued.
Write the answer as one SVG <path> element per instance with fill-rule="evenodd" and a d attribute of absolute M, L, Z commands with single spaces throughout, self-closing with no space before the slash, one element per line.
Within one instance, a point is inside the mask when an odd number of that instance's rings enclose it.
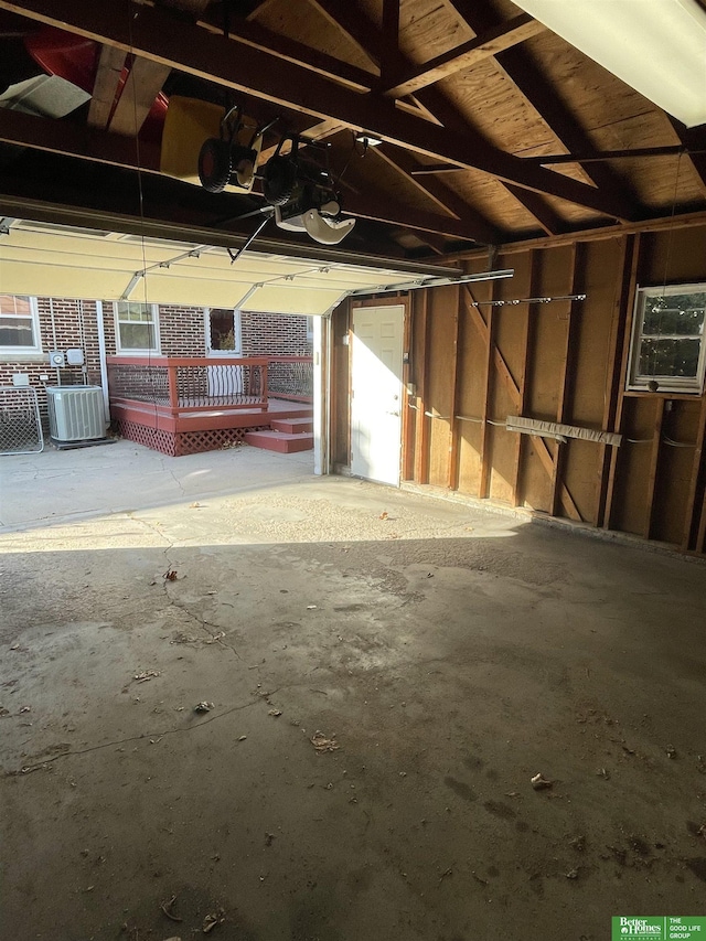
<path fill-rule="evenodd" d="M 392 263 L 394 265 L 394 263 Z M 420 271 L 424 276 L 424 268 Z M 349 291 L 409 282 L 357 267 L 14 220 L 0 235 L 2 293 L 324 314 Z"/>

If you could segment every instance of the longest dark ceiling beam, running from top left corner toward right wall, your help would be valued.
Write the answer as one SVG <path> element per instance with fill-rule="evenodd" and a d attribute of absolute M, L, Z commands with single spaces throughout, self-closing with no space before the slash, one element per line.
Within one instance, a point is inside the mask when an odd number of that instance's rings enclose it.
<path fill-rule="evenodd" d="M 550 170 L 523 167 L 521 158 L 493 147 L 470 127 L 464 133 L 448 128 L 443 133 L 429 133 L 428 124 L 399 111 L 383 96 L 357 95 L 285 60 L 272 68 L 271 56 L 250 46 L 242 45 L 234 56 L 231 40 L 200 31 L 150 7 L 128 0 L 109 4 L 93 0 L 0 0 L 0 9 L 22 11 L 40 22 L 133 51 L 141 57 L 296 111 L 334 118 L 353 130 L 367 130 L 435 160 L 482 170 L 613 218 L 633 217 L 633 207 L 620 193 L 607 195 Z M 362 21 L 360 15 L 359 20 Z"/>

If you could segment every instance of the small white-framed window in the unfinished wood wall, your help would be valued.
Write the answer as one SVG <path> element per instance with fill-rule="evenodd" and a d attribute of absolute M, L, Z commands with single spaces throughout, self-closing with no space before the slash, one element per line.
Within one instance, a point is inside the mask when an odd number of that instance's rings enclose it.
<path fill-rule="evenodd" d="M 628 388 L 700 393 L 706 366 L 706 285 L 640 288 Z"/>

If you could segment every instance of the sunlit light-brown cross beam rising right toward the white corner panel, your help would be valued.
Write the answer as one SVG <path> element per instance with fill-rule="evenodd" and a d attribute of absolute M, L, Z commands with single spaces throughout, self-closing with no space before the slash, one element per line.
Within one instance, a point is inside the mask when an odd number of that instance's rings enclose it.
<path fill-rule="evenodd" d="M 471 68 L 478 62 L 498 55 L 504 50 L 511 49 L 525 40 L 544 32 L 546 26 L 534 20 L 528 13 L 521 13 L 504 23 L 498 23 L 482 35 L 462 43 L 456 49 L 445 52 L 425 63 L 420 68 L 408 72 L 404 77 L 397 79 L 395 85 L 385 88 L 385 94 L 393 98 L 410 95 L 448 78 L 463 68 Z"/>

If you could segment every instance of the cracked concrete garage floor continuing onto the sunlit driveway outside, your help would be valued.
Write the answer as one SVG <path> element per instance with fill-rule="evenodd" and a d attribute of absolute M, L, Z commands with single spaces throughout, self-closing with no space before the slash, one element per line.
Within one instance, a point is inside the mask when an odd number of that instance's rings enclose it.
<path fill-rule="evenodd" d="M 703 565 L 310 466 L 2 459 L 2 937 L 706 913 Z"/>

